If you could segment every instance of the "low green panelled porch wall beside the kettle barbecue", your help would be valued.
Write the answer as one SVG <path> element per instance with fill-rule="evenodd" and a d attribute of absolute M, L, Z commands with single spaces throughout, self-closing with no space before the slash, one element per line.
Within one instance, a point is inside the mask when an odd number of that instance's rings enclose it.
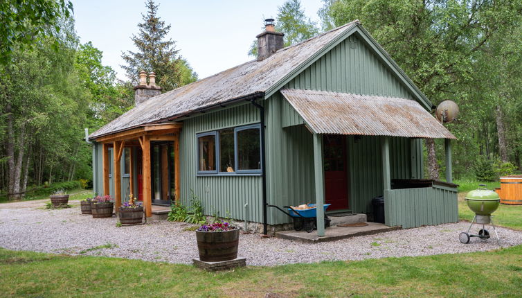
<path fill-rule="evenodd" d="M 386 225 L 407 229 L 458 221 L 456 189 L 433 186 L 386 192 Z"/>

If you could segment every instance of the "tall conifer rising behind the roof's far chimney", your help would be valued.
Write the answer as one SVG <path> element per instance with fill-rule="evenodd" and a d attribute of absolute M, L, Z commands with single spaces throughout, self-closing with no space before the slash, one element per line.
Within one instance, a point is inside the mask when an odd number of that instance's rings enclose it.
<path fill-rule="evenodd" d="M 181 82 L 181 58 L 178 56 L 176 42 L 165 40 L 170 31 L 170 24 L 157 16 L 158 7 L 154 0 L 147 0 L 147 14 L 142 15 L 143 23 L 138 24 L 138 35 L 132 35 L 131 40 L 138 49 L 136 52 L 126 51 L 122 58 L 127 65 L 122 65 L 127 72 L 127 78 L 133 84 L 138 82 L 138 72 L 154 71 L 156 84 L 163 87 L 163 91 L 175 89 Z"/>

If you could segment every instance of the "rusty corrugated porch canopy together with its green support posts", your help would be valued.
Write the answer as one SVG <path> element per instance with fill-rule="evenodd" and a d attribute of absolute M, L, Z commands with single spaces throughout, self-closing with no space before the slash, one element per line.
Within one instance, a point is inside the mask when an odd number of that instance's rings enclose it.
<path fill-rule="evenodd" d="M 388 137 L 446 139 L 446 178 L 451 182 L 451 145 L 456 139 L 417 101 L 406 98 L 346 94 L 330 91 L 282 89 L 290 105 L 314 134 L 317 235 L 324 236 L 325 201 L 321 134 L 382 136 L 384 204 L 389 202 L 390 152 Z M 389 204 L 388 204 L 389 206 Z M 388 220 L 386 220 L 388 222 Z"/>

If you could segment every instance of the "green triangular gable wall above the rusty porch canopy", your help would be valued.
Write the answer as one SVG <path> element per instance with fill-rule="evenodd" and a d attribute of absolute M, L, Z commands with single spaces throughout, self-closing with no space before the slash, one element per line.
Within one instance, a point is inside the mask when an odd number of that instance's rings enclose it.
<path fill-rule="evenodd" d="M 355 35 L 335 46 L 285 87 L 413 99 L 402 82 Z"/>

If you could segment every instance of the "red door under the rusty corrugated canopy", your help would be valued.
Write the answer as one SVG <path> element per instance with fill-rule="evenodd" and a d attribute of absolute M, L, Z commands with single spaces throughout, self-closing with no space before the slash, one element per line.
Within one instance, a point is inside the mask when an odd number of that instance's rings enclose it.
<path fill-rule="evenodd" d="M 349 209 L 348 164 L 346 162 L 346 137 L 325 134 L 325 201 L 332 204 L 328 210 Z"/>

